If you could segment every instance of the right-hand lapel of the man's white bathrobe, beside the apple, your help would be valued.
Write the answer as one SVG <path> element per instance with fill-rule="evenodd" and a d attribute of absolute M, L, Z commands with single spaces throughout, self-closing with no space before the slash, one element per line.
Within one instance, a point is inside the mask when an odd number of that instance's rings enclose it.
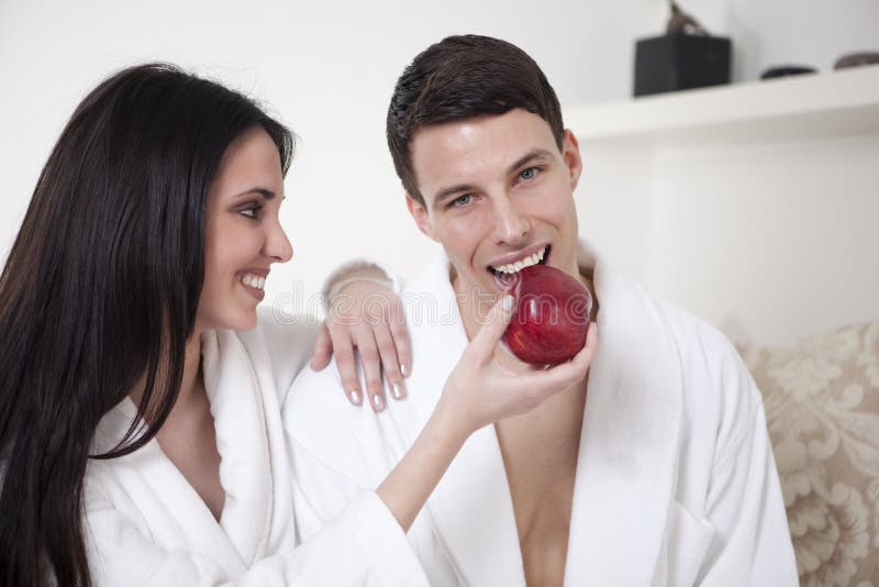
<path fill-rule="evenodd" d="M 682 416 L 677 346 L 644 291 L 597 263 L 590 367 L 565 571 L 567 585 L 650 585 L 675 491 Z"/>

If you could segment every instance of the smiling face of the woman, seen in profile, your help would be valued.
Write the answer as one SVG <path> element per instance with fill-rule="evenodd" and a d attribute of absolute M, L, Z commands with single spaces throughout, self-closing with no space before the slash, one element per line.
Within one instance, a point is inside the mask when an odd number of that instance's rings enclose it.
<path fill-rule="evenodd" d="M 208 196 L 199 330 L 256 325 L 271 264 L 293 256 L 278 222 L 282 199 L 278 147 L 254 128 L 230 145 Z"/>

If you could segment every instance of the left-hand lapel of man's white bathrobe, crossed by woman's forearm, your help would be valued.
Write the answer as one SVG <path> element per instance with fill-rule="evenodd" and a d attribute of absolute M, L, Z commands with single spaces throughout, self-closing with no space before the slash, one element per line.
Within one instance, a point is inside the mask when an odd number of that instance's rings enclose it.
<path fill-rule="evenodd" d="M 467 345 L 445 256 L 433 269 L 403 294 L 414 355 L 407 379 L 409 398 L 389 406 L 393 429 L 402 434 L 400 446 L 410 446 L 427 422 Z M 422 514 L 431 517 L 464 584 L 525 584 L 513 503 L 493 427 L 467 440 Z"/>

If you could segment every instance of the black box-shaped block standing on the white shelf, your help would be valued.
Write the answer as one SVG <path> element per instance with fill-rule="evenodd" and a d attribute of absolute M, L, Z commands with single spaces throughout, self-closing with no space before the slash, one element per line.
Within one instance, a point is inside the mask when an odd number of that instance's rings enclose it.
<path fill-rule="evenodd" d="M 732 42 L 722 36 L 668 34 L 635 44 L 635 96 L 730 82 Z"/>

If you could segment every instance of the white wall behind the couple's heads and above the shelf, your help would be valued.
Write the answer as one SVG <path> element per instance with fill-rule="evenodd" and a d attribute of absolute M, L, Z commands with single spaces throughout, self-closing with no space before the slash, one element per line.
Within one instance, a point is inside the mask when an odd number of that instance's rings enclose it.
<path fill-rule="evenodd" d="M 753 79 L 770 63 L 826 68 L 841 53 L 879 48 L 875 0 L 682 4 L 739 42 L 737 79 Z M 433 245 L 405 213 L 383 118 L 393 82 L 414 54 L 447 34 L 501 36 L 535 57 L 564 104 L 615 100 L 631 92 L 634 38 L 660 32 L 665 16 L 661 0 L 264 0 L 247 8 L 207 0 L 0 0 L 0 250 L 4 255 L 11 244 L 79 99 L 111 70 L 166 59 L 266 100 L 301 137 L 282 218 L 297 254 L 274 273 L 269 300 L 297 280 L 304 291 L 316 290 L 333 265 L 353 255 L 380 257 L 412 276 Z M 613 173 L 621 181 L 639 180 L 624 177 L 624 169 Z M 581 210 L 600 212 L 600 206 Z M 647 225 L 648 219 L 631 221 Z"/>

